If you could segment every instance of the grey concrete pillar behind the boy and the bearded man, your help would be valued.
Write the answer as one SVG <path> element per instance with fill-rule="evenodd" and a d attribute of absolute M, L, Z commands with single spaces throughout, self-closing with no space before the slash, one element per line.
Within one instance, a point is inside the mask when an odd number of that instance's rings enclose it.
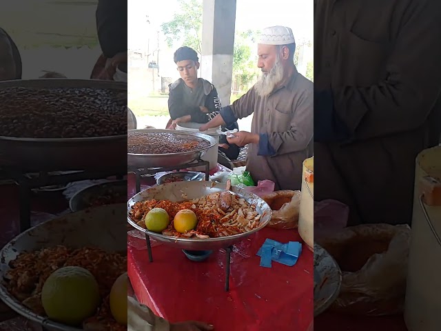
<path fill-rule="evenodd" d="M 203 0 L 201 77 L 218 90 L 228 106 L 233 77 L 236 0 Z"/>

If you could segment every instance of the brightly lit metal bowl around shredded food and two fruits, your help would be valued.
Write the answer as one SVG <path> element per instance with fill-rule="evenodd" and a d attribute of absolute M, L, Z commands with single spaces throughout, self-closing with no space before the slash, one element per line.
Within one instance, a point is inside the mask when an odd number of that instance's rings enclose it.
<path fill-rule="evenodd" d="M 271 219 L 271 208 L 263 199 L 260 199 L 255 194 L 247 192 L 242 188 L 237 188 L 232 186 L 231 191 L 236 193 L 239 197 L 244 198 L 247 202 L 256 205 L 256 211 L 262 215 L 260 217 L 260 225 L 249 232 L 234 234 L 234 236 L 220 237 L 220 238 L 209 238 L 209 239 L 192 239 L 192 238 L 174 238 L 170 236 L 164 236 L 163 234 L 158 234 L 155 232 L 150 232 L 141 228 L 132 218 L 130 217 L 130 210 L 132 210 L 132 205 L 136 202 L 156 199 L 156 200 L 170 200 L 174 202 L 184 201 L 186 199 L 196 199 L 203 197 L 212 192 L 218 192 L 225 190 L 227 185 L 225 183 L 215 183 L 209 181 L 178 181 L 175 183 L 167 183 L 154 188 L 149 188 L 142 192 L 136 194 L 127 203 L 127 221 L 134 228 L 145 232 L 150 237 L 157 241 L 161 241 L 167 245 L 171 245 L 175 248 L 181 248 L 181 250 L 217 250 L 219 248 L 227 248 L 238 241 L 249 237 L 249 235 L 258 232 L 265 228 Z"/>

